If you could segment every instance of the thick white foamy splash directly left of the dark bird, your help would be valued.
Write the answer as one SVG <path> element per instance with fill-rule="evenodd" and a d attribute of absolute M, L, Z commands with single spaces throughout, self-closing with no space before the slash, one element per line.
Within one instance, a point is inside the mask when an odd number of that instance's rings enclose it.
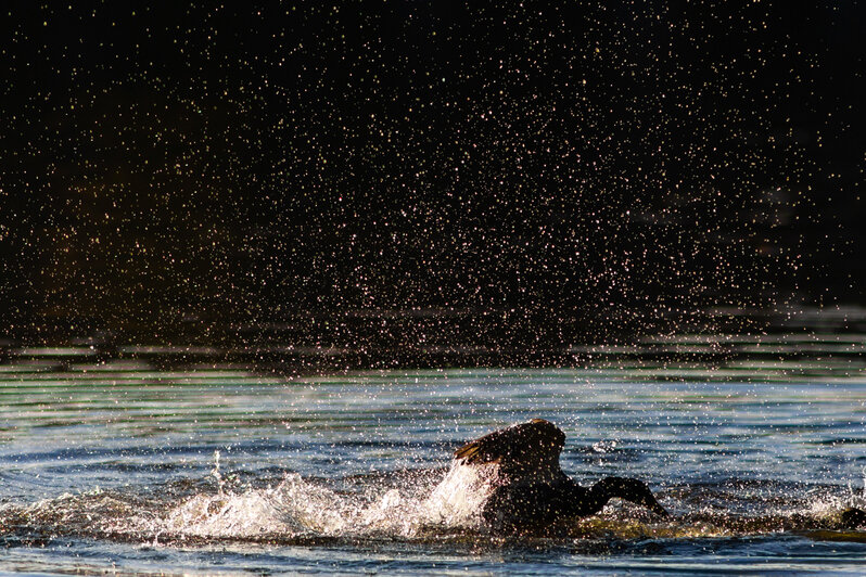
<path fill-rule="evenodd" d="M 275 488 L 193 496 L 168 512 L 160 533 L 202 538 L 373 534 L 411 537 L 431 525 L 476 527 L 498 467 L 453 463 L 435 487 L 340 495 L 288 474 Z"/>

